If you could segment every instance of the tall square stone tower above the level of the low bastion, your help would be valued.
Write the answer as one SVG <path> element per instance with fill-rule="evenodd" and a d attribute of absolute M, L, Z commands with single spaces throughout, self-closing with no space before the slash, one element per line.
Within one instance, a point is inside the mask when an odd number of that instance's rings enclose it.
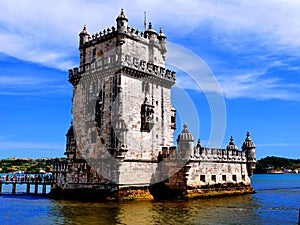
<path fill-rule="evenodd" d="M 105 148 L 122 159 L 153 160 L 173 146 L 175 72 L 165 69 L 162 29 L 130 28 L 121 10 L 116 28 L 90 35 L 84 26 L 79 51 L 80 67 L 69 70 L 77 151 L 98 157 Z"/>

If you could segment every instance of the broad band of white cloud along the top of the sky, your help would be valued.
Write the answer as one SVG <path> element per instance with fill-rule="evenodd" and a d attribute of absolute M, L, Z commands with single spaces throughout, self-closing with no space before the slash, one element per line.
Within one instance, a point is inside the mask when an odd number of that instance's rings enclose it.
<path fill-rule="evenodd" d="M 300 46 L 300 2 L 297 1 L 190 0 L 187 4 L 181 0 L 12 0 L 0 3 L 0 40 L 5 43 L 0 51 L 24 60 L 66 69 L 74 65 L 68 54 L 73 53 L 71 49 L 78 43 L 77 34 L 83 24 L 87 24 L 93 32 L 115 25 L 111 18 L 115 18 L 120 8 L 127 5 L 130 7 L 125 10 L 132 26 L 140 24 L 140 28 L 143 12 L 148 11 L 149 20 L 164 23 L 176 30 L 178 35 L 185 35 L 203 23 L 209 23 L 223 37 L 230 36 L 233 42 L 239 40 L 234 38 L 236 34 L 243 34 L 243 37 L 252 34 L 251 37 L 259 36 L 269 46 L 284 45 L 285 49 Z M 99 13 L 99 10 L 105 14 Z M 176 18 L 176 21 L 172 18 Z M 222 39 L 222 35 L 219 37 Z"/>

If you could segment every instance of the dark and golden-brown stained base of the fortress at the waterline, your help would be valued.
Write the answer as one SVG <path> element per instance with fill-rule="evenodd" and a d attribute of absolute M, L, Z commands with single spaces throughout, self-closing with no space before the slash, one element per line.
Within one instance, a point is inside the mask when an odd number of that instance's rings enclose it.
<path fill-rule="evenodd" d="M 230 195 L 253 194 L 251 186 L 206 186 L 201 188 L 189 187 L 186 191 L 169 189 L 162 183 L 150 187 L 123 187 L 118 191 L 99 189 L 52 189 L 49 197 L 53 199 L 69 199 L 80 201 L 137 201 L 137 200 L 175 200 L 201 199 Z"/>

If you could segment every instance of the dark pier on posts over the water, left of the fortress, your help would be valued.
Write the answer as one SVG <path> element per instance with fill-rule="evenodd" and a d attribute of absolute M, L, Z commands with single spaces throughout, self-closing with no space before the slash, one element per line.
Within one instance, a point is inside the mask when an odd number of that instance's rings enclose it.
<path fill-rule="evenodd" d="M 11 185 L 11 194 L 15 195 L 17 193 L 17 185 L 26 185 L 26 192 L 25 194 L 27 195 L 46 195 L 47 193 L 47 186 L 52 185 L 51 181 L 6 181 L 6 182 L 2 182 L 0 181 L 0 195 L 2 194 L 2 187 L 3 185 Z M 34 186 L 34 192 L 30 192 L 31 190 L 31 186 Z M 42 193 L 39 193 L 39 186 L 42 186 Z"/>

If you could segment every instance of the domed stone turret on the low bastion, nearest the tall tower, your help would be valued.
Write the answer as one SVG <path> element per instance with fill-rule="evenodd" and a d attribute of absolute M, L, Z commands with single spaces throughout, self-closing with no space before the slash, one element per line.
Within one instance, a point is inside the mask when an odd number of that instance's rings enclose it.
<path fill-rule="evenodd" d="M 183 158 L 189 157 L 194 150 L 194 137 L 187 129 L 187 125 L 183 125 L 183 130 L 177 138 L 178 152 Z"/>

